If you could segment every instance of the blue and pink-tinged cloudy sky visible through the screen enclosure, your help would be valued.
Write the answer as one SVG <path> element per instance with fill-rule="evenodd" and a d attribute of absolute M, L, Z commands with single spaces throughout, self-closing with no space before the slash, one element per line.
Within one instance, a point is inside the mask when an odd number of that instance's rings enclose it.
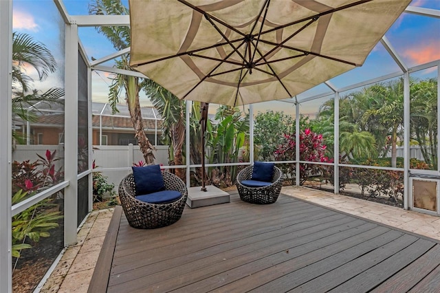
<path fill-rule="evenodd" d="M 0 0 L 1 1 L 1 0 Z M 397 1 L 397 0 L 396 0 Z M 63 3 L 69 14 L 87 15 L 89 0 L 64 0 Z M 128 1 L 122 1 L 128 7 Z M 440 10 L 440 0 L 413 0 L 410 6 Z M 58 70 L 43 82 L 34 82 L 37 89 L 50 87 L 63 87 L 64 64 L 64 23 L 58 15 L 58 10 L 52 0 L 13 0 L 13 30 L 30 34 L 51 50 L 58 63 Z M 83 43 L 87 57 L 102 58 L 115 52 L 111 43 L 104 36 L 98 34 L 95 28 L 79 28 L 78 35 Z M 386 38 L 391 42 L 399 56 L 408 67 L 428 63 L 440 59 L 440 19 L 421 17 L 415 14 L 403 13 L 386 33 Z M 104 65 L 111 66 L 111 63 Z M 372 50 L 362 67 L 355 68 L 332 78 L 330 81 L 338 88 L 360 83 L 364 80 L 377 78 L 386 74 L 399 72 L 400 69 L 386 52 L 384 46 L 378 43 Z M 28 74 L 35 76 L 32 68 Z M 437 76 L 437 69 L 428 69 L 418 72 L 417 77 L 427 78 Z M 111 74 L 107 72 L 92 73 L 92 95 L 94 102 L 106 102 L 108 87 L 111 84 Z M 318 85 L 303 94 L 298 95 L 298 100 L 307 96 L 314 96 L 330 91 L 325 85 Z M 326 99 L 326 98 L 325 98 Z M 323 101 L 320 99 L 301 105 L 304 113 L 317 111 Z M 123 98 L 122 98 L 123 102 Z M 142 105 L 151 105 L 145 97 L 141 97 Z M 248 109 L 247 106 L 244 107 Z M 211 109 L 215 109 L 212 107 Z M 294 105 L 286 102 L 263 102 L 254 105 L 254 112 L 274 109 L 294 113 Z"/>

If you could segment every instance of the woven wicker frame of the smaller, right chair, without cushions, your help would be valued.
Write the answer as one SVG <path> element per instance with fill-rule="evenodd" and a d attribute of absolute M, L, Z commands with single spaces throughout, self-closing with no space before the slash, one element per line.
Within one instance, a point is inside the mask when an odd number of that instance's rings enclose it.
<path fill-rule="evenodd" d="M 236 188 L 243 202 L 251 204 L 273 204 L 278 199 L 283 186 L 283 173 L 278 167 L 274 166 L 272 184 L 264 187 L 248 187 L 241 184 L 243 180 L 250 180 L 254 166 L 248 166 L 236 176 Z"/>

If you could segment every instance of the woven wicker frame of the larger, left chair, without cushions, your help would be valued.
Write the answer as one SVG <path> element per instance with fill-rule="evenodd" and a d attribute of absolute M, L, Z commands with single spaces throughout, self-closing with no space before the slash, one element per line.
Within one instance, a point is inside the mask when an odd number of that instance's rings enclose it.
<path fill-rule="evenodd" d="M 150 204 L 135 199 L 133 173 L 126 175 L 119 185 L 119 198 L 126 219 L 133 228 L 153 229 L 175 223 L 184 212 L 188 190 L 184 182 L 173 173 L 162 171 L 165 189 L 179 191 L 181 197 L 167 204 Z"/>

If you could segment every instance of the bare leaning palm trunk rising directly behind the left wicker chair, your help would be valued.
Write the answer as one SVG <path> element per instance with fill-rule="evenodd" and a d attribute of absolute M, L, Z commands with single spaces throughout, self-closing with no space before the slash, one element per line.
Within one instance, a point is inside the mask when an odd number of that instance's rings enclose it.
<path fill-rule="evenodd" d="M 155 156 L 153 151 L 155 151 L 156 148 L 153 146 L 153 144 L 151 144 L 148 138 L 146 138 L 144 132 L 144 122 L 142 121 L 142 113 L 140 111 L 139 97 L 137 96 L 137 98 L 135 98 L 133 108 L 130 107 L 130 102 L 127 104 L 129 105 L 131 122 L 133 123 L 133 128 L 135 129 L 135 138 L 137 138 L 140 151 L 142 151 L 142 154 L 144 154 L 144 160 L 148 165 L 154 164 Z"/>

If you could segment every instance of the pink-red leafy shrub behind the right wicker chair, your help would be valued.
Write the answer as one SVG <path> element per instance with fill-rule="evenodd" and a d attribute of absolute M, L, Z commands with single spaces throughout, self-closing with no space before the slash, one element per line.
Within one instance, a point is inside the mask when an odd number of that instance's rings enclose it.
<path fill-rule="evenodd" d="M 274 152 L 275 160 L 293 161 L 295 160 L 296 152 L 296 135 L 295 133 L 285 133 L 283 137 L 283 143 L 279 144 Z M 300 131 L 300 161 L 331 163 L 333 159 L 325 155 L 326 149 L 327 145 L 324 143 L 322 134 L 314 133 L 310 129 Z M 294 177 L 296 176 L 295 164 L 283 164 L 281 168 L 287 180 L 291 180 L 291 183 L 294 184 Z M 326 166 L 300 163 L 300 185 L 303 185 L 310 176 L 322 175 L 326 172 Z"/>

